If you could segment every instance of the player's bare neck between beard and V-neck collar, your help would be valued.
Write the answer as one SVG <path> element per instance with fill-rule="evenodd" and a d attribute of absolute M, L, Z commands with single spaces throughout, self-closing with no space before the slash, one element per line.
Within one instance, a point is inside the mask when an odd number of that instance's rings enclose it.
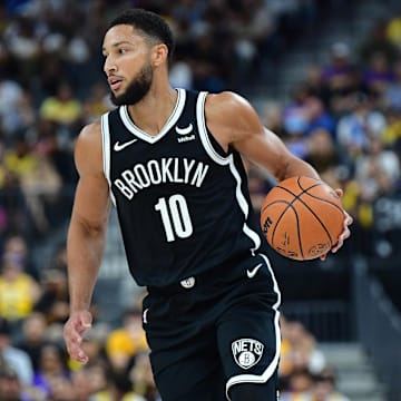
<path fill-rule="evenodd" d="M 177 91 L 170 86 L 163 90 L 151 87 L 143 100 L 128 106 L 128 111 L 137 127 L 149 135 L 157 135 L 172 116 L 177 97 Z"/>

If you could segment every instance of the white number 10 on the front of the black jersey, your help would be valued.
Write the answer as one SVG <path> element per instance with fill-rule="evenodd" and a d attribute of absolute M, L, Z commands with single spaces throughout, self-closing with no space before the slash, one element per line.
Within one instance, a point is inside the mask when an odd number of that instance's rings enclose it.
<path fill-rule="evenodd" d="M 158 198 L 155 211 L 160 213 L 167 242 L 187 238 L 194 232 L 188 205 L 183 195 Z"/>

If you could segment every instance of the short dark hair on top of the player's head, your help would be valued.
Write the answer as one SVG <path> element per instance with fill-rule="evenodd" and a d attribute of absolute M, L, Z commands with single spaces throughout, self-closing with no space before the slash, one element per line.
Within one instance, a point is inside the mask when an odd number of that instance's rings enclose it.
<path fill-rule="evenodd" d="M 118 25 L 130 25 L 144 36 L 166 45 L 168 59 L 172 59 L 175 47 L 174 36 L 168 23 L 159 14 L 140 8 L 133 8 L 114 18 L 107 30 Z"/>

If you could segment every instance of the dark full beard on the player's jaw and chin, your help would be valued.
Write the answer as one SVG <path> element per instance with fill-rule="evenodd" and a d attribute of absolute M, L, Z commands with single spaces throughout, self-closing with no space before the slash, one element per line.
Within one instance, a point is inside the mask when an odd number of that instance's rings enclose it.
<path fill-rule="evenodd" d="M 149 63 L 146 63 L 137 77 L 128 85 L 126 91 L 118 96 L 111 92 L 110 100 L 115 106 L 135 105 L 149 91 L 151 81 L 153 69 Z"/>

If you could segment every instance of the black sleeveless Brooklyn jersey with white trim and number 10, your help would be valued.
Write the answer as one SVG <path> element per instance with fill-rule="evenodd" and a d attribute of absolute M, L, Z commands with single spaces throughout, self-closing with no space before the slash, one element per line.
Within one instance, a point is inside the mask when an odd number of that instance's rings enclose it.
<path fill-rule="evenodd" d="M 105 175 L 139 285 L 178 283 L 266 246 L 239 154 L 206 127 L 207 94 L 177 91 L 157 135 L 138 128 L 127 106 L 101 117 Z"/>

